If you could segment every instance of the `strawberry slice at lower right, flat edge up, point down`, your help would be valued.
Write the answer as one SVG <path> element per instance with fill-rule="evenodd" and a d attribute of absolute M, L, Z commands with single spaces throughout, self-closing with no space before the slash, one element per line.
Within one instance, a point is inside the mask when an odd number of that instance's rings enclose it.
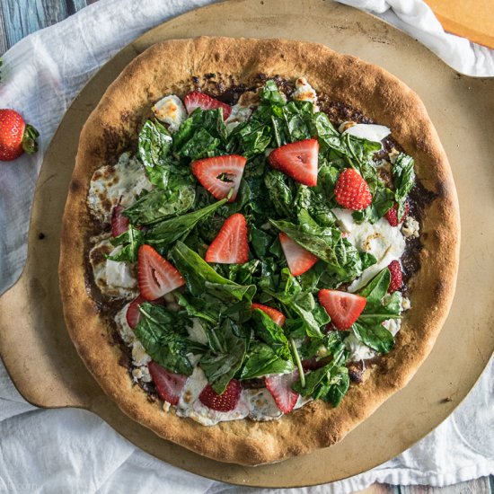
<path fill-rule="evenodd" d="M 348 330 L 364 310 L 367 300 L 364 296 L 348 292 L 322 289 L 319 290 L 319 302 L 339 330 Z"/>

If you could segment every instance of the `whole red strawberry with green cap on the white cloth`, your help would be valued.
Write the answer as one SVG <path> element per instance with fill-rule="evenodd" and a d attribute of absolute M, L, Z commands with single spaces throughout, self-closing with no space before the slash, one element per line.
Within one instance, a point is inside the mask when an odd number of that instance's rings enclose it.
<path fill-rule="evenodd" d="M 24 152 L 36 153 L 39 135 L 36 128 L 26 125 L 17 111 L 0 110 L 0 161 L 12 161 Z"/>

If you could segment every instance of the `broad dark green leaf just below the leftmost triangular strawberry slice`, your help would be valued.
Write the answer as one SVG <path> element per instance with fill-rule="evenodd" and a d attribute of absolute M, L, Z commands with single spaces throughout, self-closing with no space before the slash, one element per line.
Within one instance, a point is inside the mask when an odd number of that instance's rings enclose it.
<path fill-rule="evenodd" d="M 139 310 L 141 318 L 134 331 L 149 356 L 175 374 L 191 375 L 193 366 L 187 354 L 198 344 L 188 338 L 188 319 L 147 302 L 141 304 Z"/>

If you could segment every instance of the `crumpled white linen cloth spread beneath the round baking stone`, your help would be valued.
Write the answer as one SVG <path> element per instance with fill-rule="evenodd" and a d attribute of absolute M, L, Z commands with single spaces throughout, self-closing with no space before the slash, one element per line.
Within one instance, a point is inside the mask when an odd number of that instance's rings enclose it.
<path fill-rule="evenodd" d="M 377 13 L 460 72 L 494 75 L 493 52 L 445 34 L 419 0 L 341 0 Z M 4 55 L 0 101 L 40 130 L 40 152 L 0 165 L 0 293 L 19 278 L 43 154 L 75 95 L 129 41 L 209 0 L 100 0 Z M 297 492 L 351 492 L 375 481 L 447 485 L 494 473 L 494 360 L 454 414 L 417 445 L 345 481 Z M 0 491 L 242 492 L 155 459 L 84 410 L 24 401 L 0 362 Z M 278 492 L 280 490 L 272 490 Z M 289 491 L 289 490 L 287 490 Z M 295 490 L 294 490 L 295 492 Z"/>

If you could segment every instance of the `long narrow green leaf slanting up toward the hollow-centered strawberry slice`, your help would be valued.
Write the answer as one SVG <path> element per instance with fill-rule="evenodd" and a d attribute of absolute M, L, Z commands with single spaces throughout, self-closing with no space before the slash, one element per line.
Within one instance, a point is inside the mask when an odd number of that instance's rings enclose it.
<path fill-rule="evenodd" d="M 182 216 L 164 220 L 152 226 L 146 233 L 146 243 L 162 249 L 172 246 L 177 240 L 183 240 L 198 222 L 213 214 L 216 209 L 222 207 L 227 199 L 221 199 L 207 207 L 202 207 Z"/>

